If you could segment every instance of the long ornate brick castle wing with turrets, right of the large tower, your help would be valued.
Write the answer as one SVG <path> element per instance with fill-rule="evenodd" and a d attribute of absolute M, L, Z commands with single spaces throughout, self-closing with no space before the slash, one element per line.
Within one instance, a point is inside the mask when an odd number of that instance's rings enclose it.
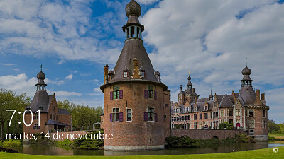
<path fill-rule="evenodd" d="M 247 63 L 247 62 L 246 62 Z M 178 102 L 171 103 L 171 127 L 173 129 L 220 129 L 220 124 L 231 124 L 235 129 L 242 129 L 257 140 L 268 140 L 268 110 L 265 94 L 253 90 L 250 78 L 251 69 L 241 71 L 239 93 L 209 95 L 199 98 L 192 88 L 189 76 L 187 90 L 178 93 Z M 261 97 L 260 97 L 261 96 Z M 221 127 L 221 129 L 225 129 Z"/>

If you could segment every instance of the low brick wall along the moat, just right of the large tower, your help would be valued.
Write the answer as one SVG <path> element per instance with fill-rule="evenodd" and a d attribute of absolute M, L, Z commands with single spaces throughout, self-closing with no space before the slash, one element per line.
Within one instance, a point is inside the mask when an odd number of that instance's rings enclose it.
<path fill-rule="evenodd" d="M 226 139 L 234 138 L 235 134 L 244 134 L 242 130 L 218 129 L 171 129 L 171 136 L 189 136 L 192 139 Z"/>

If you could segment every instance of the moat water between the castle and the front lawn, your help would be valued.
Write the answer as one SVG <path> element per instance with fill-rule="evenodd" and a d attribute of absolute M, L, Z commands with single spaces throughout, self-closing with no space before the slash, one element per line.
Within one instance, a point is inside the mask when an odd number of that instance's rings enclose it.
<path fill-rule="evenodd" d="M 23 145 L 23 153 L 33 155 L 186 155 L 204 153 L 229 153 L 248 151 L 261 148 L 284 146 L 284 141 L 257 142 L 257 143 L 226 143 L 202 148 L 167 148 L 159 151 L 104 151 L 79 150 L 55 146 Z"/>

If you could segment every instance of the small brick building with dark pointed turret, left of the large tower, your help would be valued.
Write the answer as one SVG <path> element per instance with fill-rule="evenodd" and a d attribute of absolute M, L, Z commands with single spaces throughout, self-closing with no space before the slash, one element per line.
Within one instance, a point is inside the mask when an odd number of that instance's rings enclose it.
<path fill-rule="evenodd" d="M 48 95 L 46 92 L 45 73 L 41 70 L 38 75 L 38 83 L 35 84 L 36 92 L 31 100 L 31 105 L 26 110 L 31 110 L 33 114 L 26 113 L 24 116 L 27 123 L 23 124 L 23 132 L 26 134 L 37 134 L 43 132 L 67 131 L 71 129 L 71 114 L 65 109 L 58 109 L 55 94 Z M 40 115 L 38 115 L 40 111 Z M 33 118 L 33 119 L 32 119 Z"/>

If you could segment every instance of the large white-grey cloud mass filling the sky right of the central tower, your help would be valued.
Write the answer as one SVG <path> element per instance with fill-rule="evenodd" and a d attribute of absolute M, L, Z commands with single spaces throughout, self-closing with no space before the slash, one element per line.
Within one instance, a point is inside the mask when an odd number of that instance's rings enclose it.
<path fill-rule="evenodd" d="M 284 86 L 284 4 L 275 1 L 160 1 L 141 23 L 144 41 L 163 83 L 177 100 L 180 84 L 192 83 L 200 98 L 213 93 L 235 92 L 241 87 L 241 70 L 249 59 L 254 88 Z M 240 18 L 236 18 L 240 17 Z M 269 98 L 271 117 L 281 111 Z M 273 114 L 274 113 L 274 114 Z"/>

